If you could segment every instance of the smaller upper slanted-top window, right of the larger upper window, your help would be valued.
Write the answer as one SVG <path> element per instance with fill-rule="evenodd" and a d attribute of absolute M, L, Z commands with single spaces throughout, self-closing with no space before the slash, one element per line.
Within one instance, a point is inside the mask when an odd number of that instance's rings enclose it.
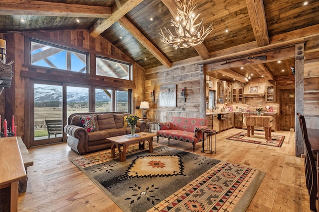
<path fill-rule="evenodd" d="M 96 57 L 96 75 L 131 79 L 131 64 L 108 58 Z"/>

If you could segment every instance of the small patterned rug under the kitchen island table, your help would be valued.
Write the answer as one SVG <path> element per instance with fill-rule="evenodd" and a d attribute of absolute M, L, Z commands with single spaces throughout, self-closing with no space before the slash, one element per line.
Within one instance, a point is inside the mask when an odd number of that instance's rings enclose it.
<path fill-rule="evenodd" d="M 234 140 L 234 141 L 243 141 L 243 142 L 257 143 L 257 144 L 263 144 L 268 146 L 281 147 L 281 145 L 283 144 L 285 140 L 285 136 L 272 135 L 271 138 L 266 140 L 265 133 L 254 132 L 254 135 L 250 135 L 250 137 L 247 137 L 247 132 L 240 132 L 227 139 Z"/>

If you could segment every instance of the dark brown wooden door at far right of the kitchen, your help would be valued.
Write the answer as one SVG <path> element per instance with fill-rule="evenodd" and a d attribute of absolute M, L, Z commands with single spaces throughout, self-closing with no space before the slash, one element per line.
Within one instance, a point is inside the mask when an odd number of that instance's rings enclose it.
<path fill-rule="evenodd" d="M 295 89 L 280 90 L 280 130 L 295 129 Z"/>

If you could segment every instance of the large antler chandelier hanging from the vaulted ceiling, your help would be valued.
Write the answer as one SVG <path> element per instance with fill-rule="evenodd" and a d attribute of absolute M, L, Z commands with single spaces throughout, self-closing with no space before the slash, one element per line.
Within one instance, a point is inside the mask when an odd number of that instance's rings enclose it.
<path fill-rule="evenodd" d="M 195 24 L 196 19 L 200 13 L 195 16 L 194 9 L 196 4 L 193 4 L 192 0 L 175 0 L 177 6 L 177 18 L 176 21 L 171 20 L 171 26 L 175 29 L 173 35 L 169 29 L 164 27 L 168 38 L 165 37 L 162 29 L 160 29 L 160 40 L 165 44 L 175 48 L 188 48 L 201 44 L 206 36 L 213 30 L 212 24 L 205 28 L 202 26 L 203 19 L 200 23 Z"/>

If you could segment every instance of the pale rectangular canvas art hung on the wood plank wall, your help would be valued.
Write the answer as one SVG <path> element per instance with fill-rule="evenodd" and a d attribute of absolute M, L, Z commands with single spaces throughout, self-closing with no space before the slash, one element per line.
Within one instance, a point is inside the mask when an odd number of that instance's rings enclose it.
<path fill-rule="evenodd" d="M 176 85 L 160 86 L 160 107 L 176 107 Z"/>

